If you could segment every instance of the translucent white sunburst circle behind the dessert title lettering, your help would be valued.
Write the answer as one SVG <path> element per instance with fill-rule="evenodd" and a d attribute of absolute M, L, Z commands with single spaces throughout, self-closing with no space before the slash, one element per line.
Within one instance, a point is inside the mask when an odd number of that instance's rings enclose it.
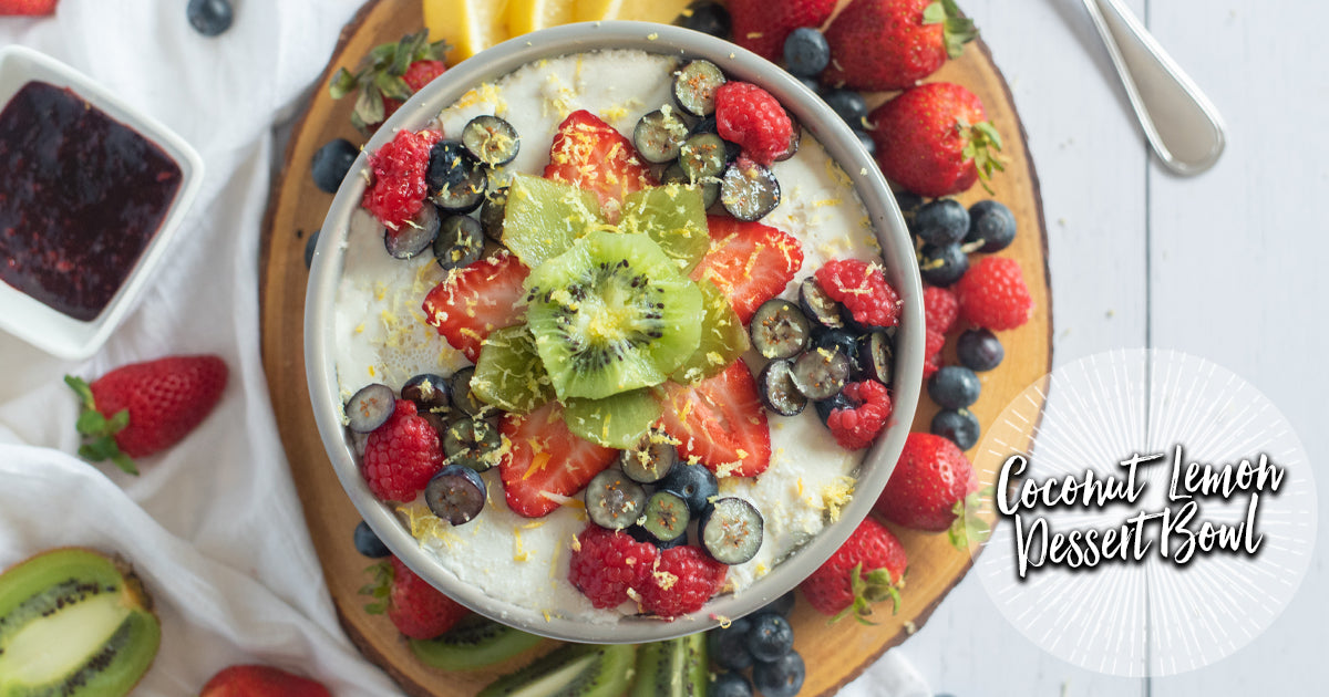
<path fill-rule="evenodd" d="M 1171 498 L 1172 462 L 1180 447 L 1183 477 Z M 1103 507 L 1067 506 L 1019 508 L 995 514 L 998 524 L 975 559 L 974 572 L 1001 612 L 1049 653 L 1074 665 L 1123 677 L 1160 677 L 1184 673 L 1224 658 L 1259 636 L 1292 599 L 1310 563 L 1316 531 L 1316 493 L 1310 463 L 1282 414 L 1257 389 L 1209 361 L 1168 350 L 1119 350 L 1091 356 L 1057 368 L 1017 397 L 987 430 L 974 469 L 979 479 L 995 485 L 1011 455 L 1027 466 L 1014 487 L 1055 478 L 1083 482 L 1094 478 L 1127 479 L 1119 463 L 1132 455 L 1163 454 L 1136 467 L 1134 502 Z M 1241 461 L 1282 469 L 1276 493 L 1259 495 L 1251 536 L 1239 546 L 1256 554 L 1199 550 L 1204 522 L 1243 527 L 1252 493 L 1231 498 L 1187 493 L 1185 467 L 1211 465 L 1221 471 Z M 1058 487 L 1059 490 L 1059 487 Z M 1170 511 L 1176 515 L 1187 501 L 1197 503 L 1184 526 L 1196 535 L 1196 550 L 1185 564 L 1176 563 L 1184 534 L 1170 535 L 1170 555 L 1160 554 L 1163 519 L 1139 526 L 1127 523 L 1138 514 Z M 994 502 L 985 499 L 986 506 Z M 1017 539 L 1017 518 L 1021 538 Z M 1034 520 L 1046 522 L 1047 539 L 1073 530 L 1096 531 L 1127 526 L 1143 531 L 1150 547 L 1135 559 L 1102 560 L 1094 567 L 1070 568 L 1045 562 L 1039 535 L 1030 542 Z M 1235 535 L 1236 536 L 1236 535 Z M 1021 540 L 1029 548 L 1025 578 L 1019 578 Z M 1231 542 L 1231 539 L 1229 539 Z"/>

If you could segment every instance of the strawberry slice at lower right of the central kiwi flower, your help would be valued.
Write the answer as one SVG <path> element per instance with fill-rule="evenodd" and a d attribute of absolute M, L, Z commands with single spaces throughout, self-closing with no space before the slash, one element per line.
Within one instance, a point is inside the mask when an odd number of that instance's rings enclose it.
<path fill-rule="evenodd" d="M 695 455 L 719 477 L 754 477 L 771 466 L 771 427 L 742 358 L 690 388 L 666 382 L 664 430 L 680 455 Z"/>

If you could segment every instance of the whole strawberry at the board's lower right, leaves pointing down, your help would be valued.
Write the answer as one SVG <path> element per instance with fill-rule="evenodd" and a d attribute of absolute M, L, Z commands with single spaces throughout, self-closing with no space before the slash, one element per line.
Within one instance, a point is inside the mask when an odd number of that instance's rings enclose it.
<path fill-rule="evenodd" d="M 908 559 L 885 526 L 865 518 L 849 539 L 799 585 L 808 604 L 836 621 L 853 615 L 864 624 L 872 605 L 889 599 L 900 608 L 900 581 Z"/>

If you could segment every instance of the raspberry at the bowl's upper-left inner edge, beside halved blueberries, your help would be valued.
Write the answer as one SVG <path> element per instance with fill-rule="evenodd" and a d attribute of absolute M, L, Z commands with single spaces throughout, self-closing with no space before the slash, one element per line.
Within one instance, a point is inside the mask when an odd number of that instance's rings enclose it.
<path fill-rule="evenodd" d="M 397 230 L 420 212 L 429 189 L 424 183 L 429 149 L 436 142 L 437 131 L 401 130 L 369 155 L 373 185 L 364 191 L 360 204 L 384 226 Z"/>

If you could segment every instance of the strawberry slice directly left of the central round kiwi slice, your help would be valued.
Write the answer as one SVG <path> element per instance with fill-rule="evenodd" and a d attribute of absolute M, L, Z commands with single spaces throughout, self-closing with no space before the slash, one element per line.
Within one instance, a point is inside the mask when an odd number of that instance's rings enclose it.
<path fill-rule="evenodd" d="M 457 270 L 425 296 L 425 321 L 474 362 L 489 332 L 521 321 L 521 284 L 529 272 L 510 254 Z"/>

